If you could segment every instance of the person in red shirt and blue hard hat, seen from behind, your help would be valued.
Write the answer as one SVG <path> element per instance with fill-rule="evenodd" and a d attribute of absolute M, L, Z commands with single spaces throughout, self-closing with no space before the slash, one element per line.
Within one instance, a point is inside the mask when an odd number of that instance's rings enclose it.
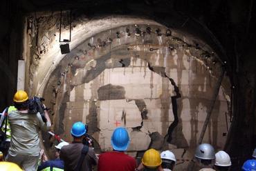
<path fill-rule="evenodd" d="M 134 171 L 136 161 L 125 154 L 129 146 L 129 134 L 125 128 L 116 128 L 111 137 L 112 152 L 100 154 L 98 171 Z"/>

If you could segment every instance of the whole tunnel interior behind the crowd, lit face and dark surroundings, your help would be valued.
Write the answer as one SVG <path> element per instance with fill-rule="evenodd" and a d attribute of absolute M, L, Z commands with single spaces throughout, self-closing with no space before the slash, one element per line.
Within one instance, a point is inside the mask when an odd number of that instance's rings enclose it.
<path fill-rule="evenodd" d="M 192 170 L 201 142 L 225 150 L 231 170 L 251 159 L 252 0 L 3 0 L 0 8 L 2 110 L 25 90 L 46 99 L 51 132 L 65 141 L 82 121 L 100 153 L 125 126 L 129 155 L 170 149 L 176 170 Z M 55 138 L 42 132 L 50 159 Z"/>

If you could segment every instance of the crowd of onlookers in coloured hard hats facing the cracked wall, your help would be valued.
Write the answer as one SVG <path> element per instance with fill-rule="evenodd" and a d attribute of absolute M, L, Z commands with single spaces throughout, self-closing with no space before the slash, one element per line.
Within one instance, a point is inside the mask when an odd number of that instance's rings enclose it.
<path fill-rule="evenodd" d="M 14 106 L 6 108 L 0 118 L 0 168 L 9 170 L 44 170 L 44 171 L 80 171 L 93 170 L 93 165 L 99 171 L 134 171 L 134 170 L 174 170 L 176 157 L 170 150 L 158 152 L 153 148 L 145 151 L 140 163 L 125 152 L 130 139 L 126 128 L 118 127 L 111 136 L 111 152 L 95 154 L 93 143 L 87 137 L 88 128 L 82 122 L 73 123 L 71 143 L 61 142 L 55 145 L 55 159 L 44 159 L 40 155 L 39 131 L 48 131 L 51 120 L 47 110 L 44 119 L 39 113 L 32 114 L 28 110 L 28 94 L 19 90 L 14 97 Z M 46 108 L 44 108 L 46 109 Z M 8 133 L 10 132 L 10 134 Z M 5 143 L 3 143 L 5 142 Z M 41 159 L 40 159 L 41 158 Z M 256 148 L 253 159 L 247 160 L 241 170 L 256 170 Z M 228 153 L 220 150 L 215 153 L 212 145 L 200 144 L 194 154 L 195 168 L 200 171 L 230 170 L 231 159 Z"/>

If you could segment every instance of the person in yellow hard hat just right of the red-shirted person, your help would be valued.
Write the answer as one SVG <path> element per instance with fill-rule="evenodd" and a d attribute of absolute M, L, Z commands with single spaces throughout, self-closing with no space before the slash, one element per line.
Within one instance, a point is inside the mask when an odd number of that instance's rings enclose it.
<path fill-rule="evenodd" d="M 141 163 L 138 168 L 136 168 L 136 170 L 163 171 L 161 164 L 162 159 L 160 153 L 157 150 L 151 148 L 143 154 L 143 159 L 141 160 Z"/>

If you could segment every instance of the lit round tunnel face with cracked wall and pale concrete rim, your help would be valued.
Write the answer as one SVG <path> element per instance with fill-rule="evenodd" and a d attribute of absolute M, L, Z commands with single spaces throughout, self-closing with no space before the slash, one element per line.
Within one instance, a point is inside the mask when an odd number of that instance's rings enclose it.
<path fill-rule="evenodd" d="M 28 26 L 33 22 L 30 17 Z M 73 21 L 71 52 L 61 54 L 58 24 L 55 16 L 42 17 L 39 41 L 30 27 L 25 47 L 26 83 L 30 94 L 46 99 L 55 134 L 71 142 L 72 124 L 82 121 L 100 153 L 111 150 L 111 133 L 124 126 L 128 154 L 140 160 L 149 148 L 172 150 L 177 170 L 188 167 L 199 141 L 224 148 L 231 84 L 216 47 L 152 19 L 110 15 Z M 68 22 L 62 27 L 68 37 Z M 52 157 L 57 141 L 43 139 Z"/>

